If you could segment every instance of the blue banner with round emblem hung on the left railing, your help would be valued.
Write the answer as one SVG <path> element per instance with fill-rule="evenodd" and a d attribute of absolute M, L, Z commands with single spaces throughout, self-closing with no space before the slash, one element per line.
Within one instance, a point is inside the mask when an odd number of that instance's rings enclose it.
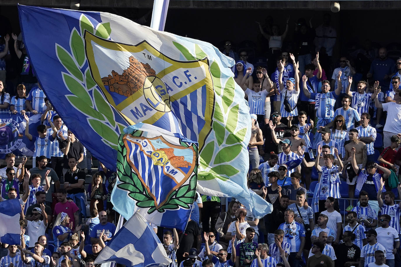
<path fill-rule="evenodd" d="M 41 113 L 26 112 L 29 117 L 29 133 L 38 136 L 36 127 L 41 124 Z M 8 153 L 16 156 L 32 157 L 34 142 L 25 136 L 26 121 L 20 113 L 0 112 L 0 159 L 5 159 Z"/>

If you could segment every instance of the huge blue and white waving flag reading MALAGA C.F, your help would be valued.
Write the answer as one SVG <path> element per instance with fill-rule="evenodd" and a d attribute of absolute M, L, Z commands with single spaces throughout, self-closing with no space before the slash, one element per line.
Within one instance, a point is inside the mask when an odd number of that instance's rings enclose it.
<path fill-rule="evenodd" d="M 257 217 L 266 213 L 267 206 L 253 207 L 247 190 L 251 120 L 233 59 L 207 42 L 109 13 L 18 11 L 43 90 L 106 167 L 116 169 L 125 127 L 152 124 L 198 142 L 198 192 L 235 197 Z"/>

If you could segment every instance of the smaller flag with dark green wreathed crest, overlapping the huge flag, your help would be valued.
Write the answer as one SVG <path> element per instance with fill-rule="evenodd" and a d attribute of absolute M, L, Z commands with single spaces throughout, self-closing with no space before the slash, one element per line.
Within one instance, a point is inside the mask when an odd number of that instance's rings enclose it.
<path fill-rule="evenodd" d="M 196 191 L 198 143 L 143 123 L 125 132 L 111 194 L 114 209 L 124 218 L 138 210 L 149 222 L 184 231 Z"/>

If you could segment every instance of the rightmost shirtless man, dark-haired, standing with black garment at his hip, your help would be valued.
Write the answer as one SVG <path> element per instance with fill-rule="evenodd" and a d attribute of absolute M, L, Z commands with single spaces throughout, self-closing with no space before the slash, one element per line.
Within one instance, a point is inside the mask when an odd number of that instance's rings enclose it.
<path fill-rule="evenodd" d="M 348 197 L 350 199 L 354 198 L 354 192 L 355 192 L 355 183 L 356 183 L 356 178 L 358 176 L 355 176 L 355 173 L 353 172 L 352 169 L 352 164 L 351 164 L 351 159 L 350 155 L 352 155 L 351 150 L 352 147 L 355 148 L 355 159 L 356 159 L 356 164 L 358 165 L 359 169 L 363 170 L 365 169 L 367 160 L 368 160 L 368 154 L 367 154 L 367 146 L 365 143 L 362 141 L 358 140 L 358 130 L 356 129 L 351 129 L 350 132 L 348 133 L 349 138 L 350 138 L 350 143 L 345 145 L 345 161 L 344 165 L 346 165 L 346 181 L 348 184 Z M 351 174 L 351 175 L 349 175 Z M 352 176 L 352 177 L 350 177 Z"/>

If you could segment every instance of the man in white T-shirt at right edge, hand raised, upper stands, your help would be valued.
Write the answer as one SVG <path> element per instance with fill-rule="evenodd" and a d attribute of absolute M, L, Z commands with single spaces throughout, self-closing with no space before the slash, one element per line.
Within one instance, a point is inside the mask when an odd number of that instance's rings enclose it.
<path fill-rule="evenodd" d="M 381 89 L 376 87 L 375 95 L 377 96 L 379 92 L 381 92 Z M 375 106 L 387 111 L 386 123 L 383 128 L 384 147 L 389 147 L 391 145 L 391 137 L 401 132 L 401 90 L 394 94 L 394 101 L 380 103 L 377 97 L 375 98 Z"/>

